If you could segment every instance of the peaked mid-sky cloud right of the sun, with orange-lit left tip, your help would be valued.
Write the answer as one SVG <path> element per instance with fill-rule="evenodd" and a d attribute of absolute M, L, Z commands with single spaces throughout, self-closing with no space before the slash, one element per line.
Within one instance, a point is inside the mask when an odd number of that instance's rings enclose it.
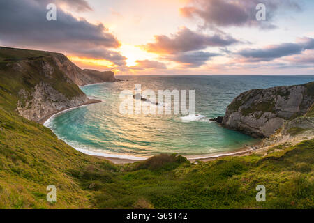
<path fill-rule="evenodd" d="M 171 37 L 165 35 L 155 36 L 154 43 L 147 43 L 147 45 L 141 45 L 140 47 L 147 52 L 157 54 L 177 54 L 206 49 L 207 47 L 224 47 L 237 42 L 231 36 L 222 34 L 207 36 L 183 27 Z"/>

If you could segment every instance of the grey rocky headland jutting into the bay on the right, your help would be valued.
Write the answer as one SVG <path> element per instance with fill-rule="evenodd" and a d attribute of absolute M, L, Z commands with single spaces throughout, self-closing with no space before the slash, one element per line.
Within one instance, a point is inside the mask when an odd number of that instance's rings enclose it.
<path fill-rule="evenodd" d="M 241 93 L 227 107 L 222 125 L 253 137 L 270 137 L 287 120 L 308 112 L 314 103 L 314 82 Z"/>

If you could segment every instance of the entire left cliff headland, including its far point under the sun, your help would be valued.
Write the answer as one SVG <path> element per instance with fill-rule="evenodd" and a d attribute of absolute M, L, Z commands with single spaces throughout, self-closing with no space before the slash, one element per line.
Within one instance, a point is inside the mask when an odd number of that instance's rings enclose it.
<path fill-rule="evenodd" d="M 114 81 L 113 72 L 82 70 L 63 54 L 0 47 L 0 107 L 32 121 L 88 102 L 78 86 Z"/>

